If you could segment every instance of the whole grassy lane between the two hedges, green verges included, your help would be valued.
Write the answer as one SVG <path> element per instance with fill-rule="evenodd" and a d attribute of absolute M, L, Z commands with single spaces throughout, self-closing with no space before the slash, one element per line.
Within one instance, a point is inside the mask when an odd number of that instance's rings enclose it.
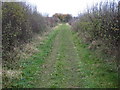
<path fill-rule="evenodd" d="M 92 55 L 69 25 L 59 25 L 43 43 L 39 53 L 21 63 L 22 77 L 12 87 L 117 87 L 117 73 Z"/>

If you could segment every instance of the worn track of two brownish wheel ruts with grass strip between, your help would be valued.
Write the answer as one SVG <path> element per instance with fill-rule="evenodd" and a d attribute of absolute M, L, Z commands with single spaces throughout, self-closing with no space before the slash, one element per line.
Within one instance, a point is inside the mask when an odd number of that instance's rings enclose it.
<path fill-rule="evenodd" d="M 60 29 L 59 29 L 60 28 Z M 37 87 L 80 87 L 77 50 L 68 26 L 59 26 L 51 54 L 41 66 Z"/>

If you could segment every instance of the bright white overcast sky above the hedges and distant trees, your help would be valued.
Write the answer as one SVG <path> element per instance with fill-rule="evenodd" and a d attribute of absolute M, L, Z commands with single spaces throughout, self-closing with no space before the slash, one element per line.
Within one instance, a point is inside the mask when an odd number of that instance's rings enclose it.
<path fill-rule="evenodd" d="M 21 1 L 21 0 L 20 0 Z M 93 3 L 106 0 L 22 0 L 30 2 L 32 5 L 37 6 L 37 10 L 44 14 L 52 16 L 55 13 L 72 14 L 77 16 L 83 12 L 86 7 L 90 7 Z"/>

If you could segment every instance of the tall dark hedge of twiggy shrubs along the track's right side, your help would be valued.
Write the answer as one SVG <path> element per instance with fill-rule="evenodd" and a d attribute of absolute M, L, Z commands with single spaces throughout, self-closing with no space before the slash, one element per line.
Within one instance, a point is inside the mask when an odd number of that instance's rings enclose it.
<path fill-rule="evenodd" d="M 89 49 L 99 50 L 113 61 L 120 58 L 120 2 L 100 2 L 72 22 L 73 30 Z M 100 54 L 96 53 L 96 54 Z"/>

